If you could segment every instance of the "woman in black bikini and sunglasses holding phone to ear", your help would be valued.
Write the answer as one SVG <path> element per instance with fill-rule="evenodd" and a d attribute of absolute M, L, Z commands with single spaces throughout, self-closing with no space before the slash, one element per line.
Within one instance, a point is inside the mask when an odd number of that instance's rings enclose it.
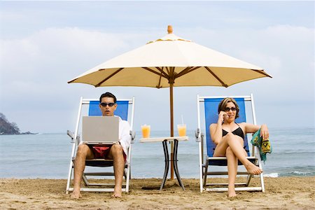
<path fill-rule="evenodd" d="M 214 157 L 226 157 L 228 160 L 228 197 L 235 197 L 235 179 L 237 176 L 237 160 L 249 174 L 261 174 L 262 170 L 246 159 L 244 137 L 247 133 L 255 133 L 260 129 L 262 139 L 269 139 L 267 125 L 235 123 L 239 117 L 239 106 L 235 99 L 225 98 L 218 105 L 218 123 L 210 125 L 211 139 L 216 144 Z"/>

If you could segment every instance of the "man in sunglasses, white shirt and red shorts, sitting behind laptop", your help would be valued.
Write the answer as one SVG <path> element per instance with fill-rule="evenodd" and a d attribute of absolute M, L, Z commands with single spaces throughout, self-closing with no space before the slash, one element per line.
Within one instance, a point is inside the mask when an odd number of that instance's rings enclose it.
<path fill-rule="evenodd" d="M 116 97 L 110 92 L 102 94 L 99 98 L 99 109 L 102 111 L 102 116 L 114 116 L 114 111 L 117 106 Z M 81 197 L 80 183 L 85 169 L 85 160 L 91 160 L 94 158 L 113 160 L 115 188 L 112 196 L 122 197 L 125 161 L 127 159 L 127 148 L 130 146 L 131 137 L 129 123 L 121 118 L 119 118 L 119 139 L 120 140 L 117 144 L 102 146 L 91 146 L 80 142 L 74 161 L 72 198 Z"/>

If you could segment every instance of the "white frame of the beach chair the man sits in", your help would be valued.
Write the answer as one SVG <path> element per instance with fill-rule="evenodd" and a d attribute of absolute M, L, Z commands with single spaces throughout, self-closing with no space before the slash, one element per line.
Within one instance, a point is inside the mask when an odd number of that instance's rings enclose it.
<path fill-rule="evenodd" d="M 132 155 L 132 144 L 134 144 L 135 139 L 135 132 L 133 132 L 133 125 L 134 125 L 134 97 L 131 99 L 117 99 L 117 102 L 124 102 L 127 103 L 128 109 L 126 110 L 127 114 L 127 120 L 130 123 L 130 136 L 131 136 L 131 144 L 130 147 L 127 149 L 127 161 L 125 164 L 125 170 L 124 170 L 124 177 L 125 181 L 123 182 L 123 192 L 129 193 L 130 189 L 130 178 L 131 178 L 131 155 Z M 76 120 L 76 128 L 75 132 L 67 131 L 67 134 L 69 137 L 71 137 L 71 159 L 69 164 L 69 173 L 68 173 L 68 179 L 66 183 L 66 194 L 73 191 L 73 188 L 71 187 L 71 180 L 73 180 L 73 169 L 74 169 L 74 160 L 76 158 L 76 151 L 78 149 L 78 144 L 80 143 L 80 135 L 79 135 L 79 129 L 80 129 L 80 121 L 83 117 L 83 106 L 90 106 L 92 103 L 99 103 L 99 99 L 83 99 L 83 97 L 80 97 L 80 104 L 78 108 L 78 118 Z M 118 105 L 119 106 L 119 105 Z M 84 115 L 87 116 L 88 114 Z M 119 115 L 118 115 L 119 116 Z M 81 191 L 85 192 L 113 192 L 114 190 L 114 180 L 111 179 L 111 183 L 92 183 L 87 179 L 87 177 L 90 176 L 114 176 L 113 170 L 111 172 L 104 172 L 104 167 L 106 168 L 113 168 L 113 160 L 104 160 L 104 159 L 92 159 L 92 160 L 86 160 L 85 166 L 90 167 L 102 167 L 103 172 L 83 172 L 83 181 L 85 183 L 85 188 L 80 188 Z M 97 188 L 96 188 L 97 186 Z"/>

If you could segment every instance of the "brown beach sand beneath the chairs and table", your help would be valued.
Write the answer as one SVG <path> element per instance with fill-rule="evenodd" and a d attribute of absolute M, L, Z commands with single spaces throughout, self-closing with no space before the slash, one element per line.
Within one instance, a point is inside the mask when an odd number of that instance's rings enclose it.
<path fill-rule="evenodd" d="M 253 179 L 253 185 L 258 178 Z M 130 193 L 111 198 L 111 193 L 83 192 L 80 200 L 65 194 L 64 179 L 0 179 L 0 209 L 315 209 L 315 177 L 265 178 L 265 193 L 199 191 L 198 179 L 183 179 L 186 191 L 176 179 L 132 179 Z M 251 186 L 253 186 L 251 185 Z"/>

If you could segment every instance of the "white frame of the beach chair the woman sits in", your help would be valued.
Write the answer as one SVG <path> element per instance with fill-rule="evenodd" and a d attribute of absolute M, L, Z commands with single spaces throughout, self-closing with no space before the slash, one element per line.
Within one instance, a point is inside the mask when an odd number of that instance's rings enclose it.
<path fill-rule="evenodd" d="M 216 162 L 222 162 L 227 160 L 227 158 L 225 157 L 209 157 L 207 155 L 206 158 L 204 158 L 204 139 L 207 139 L 208 137 L 204 137 L 204 133 L 202 133 L 202 129 L 201 129 L 201 115 L 200 115 L 200 105 L 204 104 L 204 100 L 205 99 L 223 99 L 225 97 L 232 97 L 234 99 L 244 99 L 244 102 L 246 103 L 250 103 L 251 104 L 251 116 L 253 117 L 253 124 L 256 124 L 256 117 L 255 117 L 255 106 L 254 106 L 254 100 L 253 100 L 253 94 L 250 94 L 249 96 L 218 96 L 218 97 L 200 97 L 199 94 L 197 94 L 197 123 L 198 123 L 198 127 L 197 130 L 195 132 L 195 137 L 196 137 L 196 141 L 198 142 L 199 145 L 199 165 L 200 165 L 200 193 L 202 193 L 204 190 L 206 191 L 214 191 L 214 192 L 225 192 L 228 191 L 228 183 L 207 183 L 207 176 L 227 176 L 228 172 L 226 170 L 227 166 L 226 164 L 224 164 L 225 166 L 223 166 L 225 168 L 225 170 L 221 170 L 221 169 L 216 169 L 214 171 L 211 171 L 209 168 L 213 165 L 216 165 Z M 218 107 L 214 107 L 214 109 L 218 109 Z M 248 110 L 246 110 L 246 112 L 248 113 Z M 205 118 L 205 115 L 203 115 L 203 117 Z M 204 119 L 204 122 L 206 122 L 207 119 Z M 209 129 L 209 127 L 206 127 L 205 129 Z M 211 137 L 209 137 L 211 138 Z M 211 139 L 210 139 L 211 141 Z M 248 154 L 249 154 L 249 149 L 248 149 Z M 251 155 L 248 155 L 247 157 L 248 160 L 250 160 L 251 162 L 253 162 L 255 165 L 257 165 L 258 167 L 260 167 L 260 169 L 262 169 L 262 161 L 260 158 L 260 153 L 258 150 L 257 146 L 252 146 L 252 151 L 251 151 Z M 239 165 L 241 165 L 241 162 L 239 162 Z M 218 165 L 216 165 L 217 168 L 222 168 L 218 167 Z M 251 181 L 251 178 L 253 177 L 253 175 L 248 174 L 247 172 L 241 172 L 239 170 L 237 170 L 237 176 L 239 175 L 244 175 L 247 174 L 247 179 L 246 182 L 244 183 L 235 183 L 235 191 L 261 191 L 261 192 L 265 192 L 265 184 L 264 184 L 264 180 L 263 180 L 263 173 L 261 173 L 259 175 L 260 177 L 260 186 L 259 187 L 249 187 L 249 183 Z M 209 188 L 207 188 L 207 186 L 209 186 Z M 221 187 L 218 187 L 221 186 Z M 243 186 L 243 187 L 241 187 Z"/>

